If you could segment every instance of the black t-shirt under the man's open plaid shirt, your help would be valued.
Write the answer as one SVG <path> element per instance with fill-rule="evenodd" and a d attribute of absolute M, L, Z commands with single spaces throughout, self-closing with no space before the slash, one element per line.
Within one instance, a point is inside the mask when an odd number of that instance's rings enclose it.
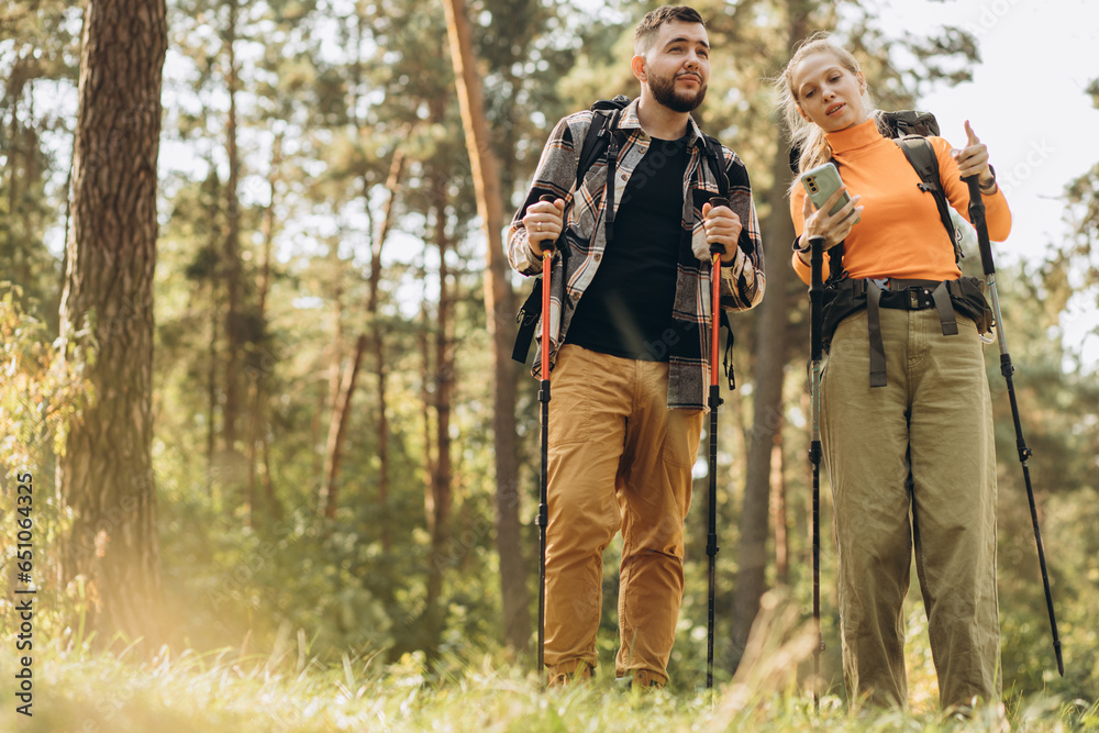
<path fill-rule="evenodd" d="M 644 362 L 667 362 L 676 338 L 687 136 L 653 138 L 630 177 L 603 252 L 565 334 L 565 343 Z M 674 341 L 671 342 L 674 343 Z"/>

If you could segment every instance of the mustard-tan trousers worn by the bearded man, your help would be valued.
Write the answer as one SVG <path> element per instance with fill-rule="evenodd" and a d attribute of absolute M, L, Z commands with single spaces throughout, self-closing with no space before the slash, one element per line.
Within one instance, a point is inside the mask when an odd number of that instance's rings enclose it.
<path fill-rule="evenodd" d="M 700 410 L 669 410 L 668 365 L 562 347 L 550 401 L 545 662 L 596 665 L 602 552 L 622 530 L 615 675 L 667 680 Z"/>

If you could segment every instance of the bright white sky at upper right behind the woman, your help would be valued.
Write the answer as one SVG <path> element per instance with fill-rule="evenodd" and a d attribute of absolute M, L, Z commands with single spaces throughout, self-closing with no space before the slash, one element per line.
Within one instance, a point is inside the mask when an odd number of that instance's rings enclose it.
<path fill-rule="evenodd" d="M 942 134 L 965 141 L 969 120 L 988 146 L 1012 212 L 997 266 L 1040 262 L 1067 242 L 1065 186 L 1099 163 L 1099 110 L 1086 88 L 1099 78 L 1096 0 L 866 0 L 887 30 L 931 32 L 952 24 L 977 38 L 981 63 L 973 81 L 936 89 L 920 100 Z M 1002 295 L 1002 293 L 1001 293 Z M 1081 366 L 1099 371 L 1099 309 L 1095 293 L 1069 303 L 1064 340 L 1081 349 Z M 1010 324 L 1006 324 L 1010 325 Z M 1009 332 L 1010 335 L 1010 332 Z M 1010 344 L 1009 344 L 1010 345 Z"/>

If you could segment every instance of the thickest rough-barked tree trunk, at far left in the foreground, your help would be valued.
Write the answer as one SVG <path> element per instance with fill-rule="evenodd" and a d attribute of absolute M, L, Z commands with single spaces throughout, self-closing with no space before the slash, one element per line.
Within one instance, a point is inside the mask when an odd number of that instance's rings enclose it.
<path fill-rule="evenodd" d="M 90 0 L 80 58 L 73 230 L 60 307 L 67 358 L 95 401 L 66 436 L 58 499 L 73 512 L 62 588 L 82 579 L 88 629 L 156 648 L 162 596 L 153 474 L 153 271 L 164 0 Z M 95 340 L 81 334 L 93 325 Z M 88 358 L 89 349 L 96 357 Z"/>

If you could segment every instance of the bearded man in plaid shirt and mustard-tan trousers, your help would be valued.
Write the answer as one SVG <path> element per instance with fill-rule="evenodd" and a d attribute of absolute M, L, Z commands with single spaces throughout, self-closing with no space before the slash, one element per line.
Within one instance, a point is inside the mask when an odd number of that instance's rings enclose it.
<path fill-rule="evenodd" d="M 634 53 L 641 96 L 603 130 L 611 142 L 577 180 L 593 112 L 560 120 L 508 230 L 509 259 L 522 275 L 542 271 L 545 248 L 562 249 L 551 279 L 564 287 L 555 285 L 542 314 L 551 319 L 552 343 L 540 344 L 553 365 L 551 686 L 592 675 L 602 553 L 620 529 L 615 676 L 644 687 L 667 684 L 684 591 L 684 522 L 710 384 L 710 247 L 724 247 L 722 307 L 746 310 L 764 293 L 744 165 L 690 115 L 710 77 L 702 18 L 684 5 L 652 11 L 636 29 Z M 717 151 L 709 158 L 708 141 Z M 709 203 L 722 190 L 718 176 L 729 181 L 730 206 Z M 541 200 L 546 195 L 554 200 Z M 541 377 L 540 356 L 534 364 Z"/>

